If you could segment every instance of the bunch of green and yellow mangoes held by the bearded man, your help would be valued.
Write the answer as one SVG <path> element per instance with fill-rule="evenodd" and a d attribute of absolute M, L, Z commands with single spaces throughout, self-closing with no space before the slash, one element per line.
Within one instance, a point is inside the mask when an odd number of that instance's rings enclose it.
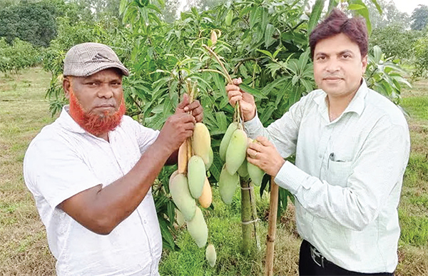
<path fill-rule="evenodd" d="M 206 245 L 208 227 L 196 200 L 203 208 L 211 205 L 213 195 L 206 171 L 212 163 L 210 132 L 203 123 L 196 123 L 193 137 L 186 140 L 178 150 L 178 170 L 170 176 L 169 188 L 178 208 L 178 224 L 186 223 L 198 247 Z M 207 260 L 210 265 L 215 264 L 213 245 L 209 249 L 207 247 Z"/>

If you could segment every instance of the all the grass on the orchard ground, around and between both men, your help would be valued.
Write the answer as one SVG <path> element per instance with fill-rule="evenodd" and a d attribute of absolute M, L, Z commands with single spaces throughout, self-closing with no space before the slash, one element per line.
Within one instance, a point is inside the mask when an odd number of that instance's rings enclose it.
<path fill-rule="evenodd" d="M 49 73 L 31 68 L 20 75 L 0 75 L 0 275 L 55 275 L 55 260 L 49 252 L 46 231 L 24 185 L 22 161 L 34 136 L 54 121 L 44 93 Z M 404 175 L 399 221 L 397 276 L 428 275 L 428 81 L 414 83 L 402 93 L 402 106 L 409 113 L 412 151 Z M 261 250 L 240 253 L 240 194 L 232 205 L 221 203 L 213 188 L 213 210 L 204 210 L 215 245 L 217 263 L 210 267 L 205 248 L 198 248 L 188 232 L 179 229 L 178 252 L 164 250 L 161 275 L 263 275 L 267 234 L 267 195 L 257 195 Z M 277 223 L 275 275 L 297 275 L 300 238 L 289 203 Z"/>

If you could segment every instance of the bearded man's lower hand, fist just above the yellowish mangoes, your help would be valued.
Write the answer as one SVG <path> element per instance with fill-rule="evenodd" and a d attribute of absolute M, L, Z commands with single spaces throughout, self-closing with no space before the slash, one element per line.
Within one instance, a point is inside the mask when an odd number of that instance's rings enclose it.
<path fill-rule="evenodd" d="M 195 123 L 195 117 L 192 115 L 188 113 L 175 113 L 166 120 L 157 140 L 163 143 L 171 154 L 175 150 L 178 150 L 185 139 L 193 135 Z"/>

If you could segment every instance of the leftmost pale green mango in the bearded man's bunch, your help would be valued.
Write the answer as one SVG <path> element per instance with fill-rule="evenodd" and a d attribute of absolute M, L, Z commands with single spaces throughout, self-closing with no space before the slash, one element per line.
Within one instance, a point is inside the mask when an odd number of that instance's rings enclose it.
<path fill-rule="evenodd" d="M 186 221 L 195 216 L 196 202 L 190 195 L 188 180 L 185 175 L 178 173 L 170 182 L 170 193 L 178 210 L 183 213 Z"/>

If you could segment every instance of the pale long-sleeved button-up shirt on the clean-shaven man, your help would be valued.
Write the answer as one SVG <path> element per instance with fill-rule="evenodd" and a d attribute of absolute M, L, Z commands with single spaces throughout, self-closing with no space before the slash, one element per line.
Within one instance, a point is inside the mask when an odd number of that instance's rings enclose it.
<path fill-rule="evenodd" d="M 342 115 L 330 122 L 327 94 L 302 97 L 263 128 L 245 123 L 249 136 L 267 136 L 285 162 L 275 183 L 295 195 L 300 236 L 327 260 L 356 272 L 397 267 L 397 207 L 409 159 L 409 128 L 402 112 L 363 81 Z"/>

